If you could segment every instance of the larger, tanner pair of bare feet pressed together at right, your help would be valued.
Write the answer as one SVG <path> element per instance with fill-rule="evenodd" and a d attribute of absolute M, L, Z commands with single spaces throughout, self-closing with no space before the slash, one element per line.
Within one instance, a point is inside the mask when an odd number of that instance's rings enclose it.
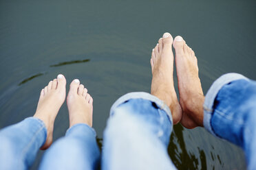
<path fill-rule="evenodd" d="M 180 102 L 173 85 L 173 51 L 178 76 Z M 204 94 L 198 76 L 198 60 L 194 51 L 186 45 L 181 36 L 173 40 L 171 34 L 164 33 L 151 54 L 152 83 L 151 94 L 162 99 L 171 110 L 173 123 L 181 123 L 186 128 L 203 126 Z"/>

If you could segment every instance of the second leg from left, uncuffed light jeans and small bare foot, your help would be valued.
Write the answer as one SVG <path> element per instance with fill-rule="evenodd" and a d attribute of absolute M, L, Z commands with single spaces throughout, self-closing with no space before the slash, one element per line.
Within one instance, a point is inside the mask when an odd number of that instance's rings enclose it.
<path fill-rule="evenodd" d="M 70 129 L 47 150 L 40 169 L 96 169 L 100 151 L 92 129 L 92 97 L 79 80 L 70 84 L 67 108 Z"/>

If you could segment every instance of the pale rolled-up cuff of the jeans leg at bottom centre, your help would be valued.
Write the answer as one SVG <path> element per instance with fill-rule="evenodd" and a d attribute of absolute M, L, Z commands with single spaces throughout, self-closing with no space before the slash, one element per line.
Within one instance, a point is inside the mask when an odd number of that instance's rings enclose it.
<path fill-rule="evenodd" d="M 116 110 L 116 108 L 120 106 L 120 104 L 123 104 L 126 101 L 129 101 L 130 99 L 145 99 L 155 103 L 156 106 L 158 106 L 158 108 L 164 110 L 164 112 L 167 113 L 167 116 L 169 117 L 169 121 L 171 122 L 171 125 L 173 125 L 171 110 L 166 104 L 164 104 L 164 101 L 158 99 L 158 97 L 156 96 L 150 95 L 149 93 L 145 93 L 145 92 L 132 92 L 132 93 L 127 93 L 126 95 L 123 95 L 122 97 L 120 97 L 118 100 L 116 100 L 116 102 L 111 107 L 110 117 L 113 116 L 114 110 Z"/>

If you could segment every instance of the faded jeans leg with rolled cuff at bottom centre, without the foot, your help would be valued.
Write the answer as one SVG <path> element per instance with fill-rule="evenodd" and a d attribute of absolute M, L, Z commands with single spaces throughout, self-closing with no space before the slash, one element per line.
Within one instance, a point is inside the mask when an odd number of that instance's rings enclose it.
<path fill-rule="evenodd" d="M 175 169 L 167 154 L 169 108 L 148 93 L 129 93 L 112 106 L 103 139 L 102 169 Z"/>

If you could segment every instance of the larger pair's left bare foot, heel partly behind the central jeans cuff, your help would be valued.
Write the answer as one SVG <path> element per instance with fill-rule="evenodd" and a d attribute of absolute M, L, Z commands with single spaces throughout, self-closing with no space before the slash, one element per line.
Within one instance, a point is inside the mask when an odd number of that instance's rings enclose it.
<path fill-rule="evenodd" d="M 182 110 L 173 85 L 173 37 L 164 33 L 152 51 L 151 69 L 152 83 L 151 94 L 164 101 L 171 110 L 173 123 L 179 123 Z"/>

